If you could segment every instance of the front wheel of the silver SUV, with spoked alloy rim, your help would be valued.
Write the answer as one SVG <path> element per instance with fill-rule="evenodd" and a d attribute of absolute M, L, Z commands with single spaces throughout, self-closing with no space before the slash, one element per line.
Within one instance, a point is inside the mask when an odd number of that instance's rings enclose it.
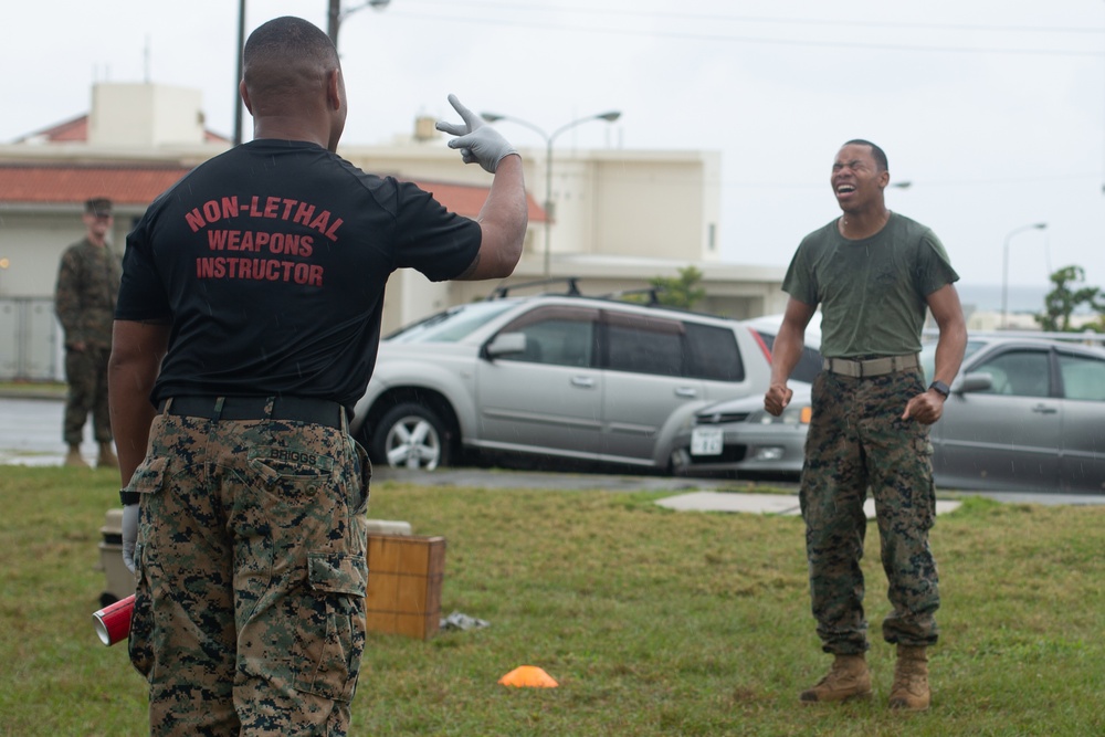
<path fill-rule="evenodd" d="M 376 423 L 371 455 L 393 468 L 433 471 L 449 465 L 445 423 L 432 410 L 406 402 L 388 410 Z"/>

